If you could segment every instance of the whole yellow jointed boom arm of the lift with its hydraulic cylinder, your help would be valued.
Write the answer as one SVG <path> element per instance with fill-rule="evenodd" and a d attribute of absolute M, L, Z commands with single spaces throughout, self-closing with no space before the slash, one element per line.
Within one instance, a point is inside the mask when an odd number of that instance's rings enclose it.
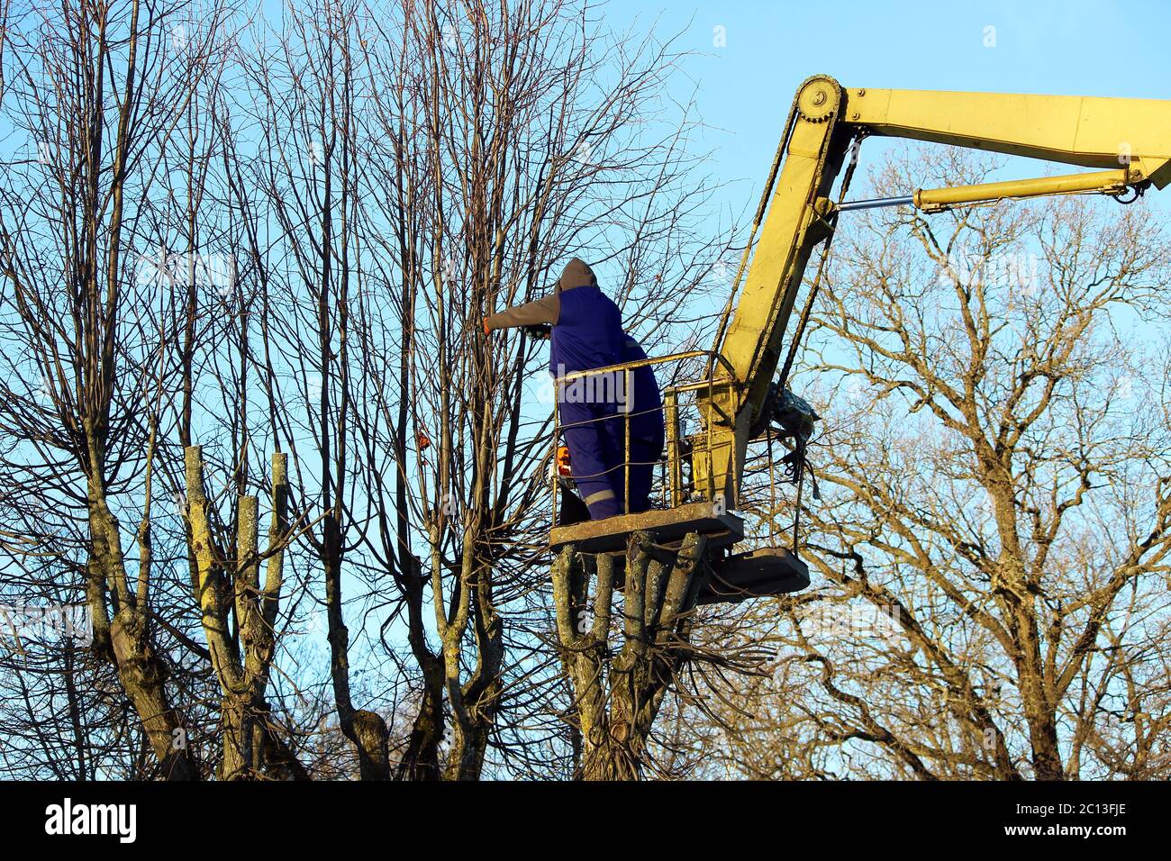
<path fill-rule="evenodd" d="M 843 205 L 842 211 L 902 203 L 931 212 L 981 200 L 1119 194 L 1128 187 L 1142 191 L 1171 183 L 1171 101 L 848 90 L 828 76 L 807 80 L 789 111 L 765 192 L 771 194 L 767 217 L 735 313 L 714 347 L 731 370 L 699 398 L 710 433 L 692 458 L 697 486 L 728 507 L 735 507 L 749 429 L 765 409 L 809 255 L 834 234 L 840 209 L 830 201 L 830 190 L 851 143 L 867 135 L 1105 170 L 919 190 L 905 198 Z"/>

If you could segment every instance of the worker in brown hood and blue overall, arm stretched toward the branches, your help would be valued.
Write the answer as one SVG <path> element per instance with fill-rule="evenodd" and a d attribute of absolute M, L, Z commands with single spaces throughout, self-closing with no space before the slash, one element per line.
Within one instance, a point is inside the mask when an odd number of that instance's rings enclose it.
<path fill-rule="evenodd" d="M 552 327 L 549 370 L 559 381 L 560 424 L 569 447 L 571 476 L 590 519 L 621 514 L 624 436 L 616 433 L 621 423 L 612 419 L 630 410 L 630 392 L 625 391 L 623 375 L 563 378 L 622 361 L 626 340 L 622 314 L 598 288 L 590 267 L 574 258 L 550 295 L 484 320 L 485 333 L 533 326 Z"/>

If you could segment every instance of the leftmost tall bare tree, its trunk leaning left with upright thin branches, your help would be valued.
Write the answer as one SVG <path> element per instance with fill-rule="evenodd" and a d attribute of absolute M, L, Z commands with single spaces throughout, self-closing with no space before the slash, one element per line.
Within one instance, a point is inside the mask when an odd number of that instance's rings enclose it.
<path fill-rule="evenodd" d="M 57 575 L 76 582 L 84 572 L 95 649 L 116 667 L 165 773 L 193 778 L 187 751 L 173 745 L 183 717 L 165 688 L 148 594 L 156 429 L 131 409 L 157 403 L 152 347 L 160 333 L 139 328 L 137 344 L 119 337 L 136 328 L 123 286 L 133 267 L 125 260 L 135 212 L 126 198 L 149 184 L 141 159 L 157 152 L 187 96 L 176 68 L 183 61 L 162 48 L 158 27 L 137 2 L 82 2 L 32 13 L 7 32 L 19 50 L 8 54 L 16 68 L 7 74 L 6 108 L 36 155 L 23 171 L 13 165 L 0 221 L 5 339 L 22 348 L 5 351 L 8 380 L 18 382 L 7 387 L 5 430 L 16 462 L 12 494 L 63 515 L 66 547 L 56 553 L 68 563 Z M 18 177 L 25 182 L 13 185 Z M 137 576 L 111 499 L 126 473 L 146 483 Z M 9 534 L 14 552 L 36 553 L 35 532 Z"/>

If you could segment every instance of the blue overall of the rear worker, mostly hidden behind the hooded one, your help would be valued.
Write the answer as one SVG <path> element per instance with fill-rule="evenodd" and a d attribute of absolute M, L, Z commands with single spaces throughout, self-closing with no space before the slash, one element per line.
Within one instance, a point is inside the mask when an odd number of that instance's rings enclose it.
<path fill-rule="evenodd" d="M 642 362 L 646 353 L 630 335 L 622 340 L 622 361 Z M 630 453 L 623 462 L 630 460 L 629 512 L 635 514 L 651 507 L 651 480 L 655 477 L 655 465 L 663 456 L 663 397 L 659 394 L 655 368 L 643 365 L 630 371 L 630 387 L 626 392 L 626 414 L 621 411 L 607 423 L 615 447 L 624 451 L 626 443 L 625 421 L 630 422 Z M 615 491 L 619 500 L 624 500 L 623 481 L 625 472 L 619 471 Z"/>

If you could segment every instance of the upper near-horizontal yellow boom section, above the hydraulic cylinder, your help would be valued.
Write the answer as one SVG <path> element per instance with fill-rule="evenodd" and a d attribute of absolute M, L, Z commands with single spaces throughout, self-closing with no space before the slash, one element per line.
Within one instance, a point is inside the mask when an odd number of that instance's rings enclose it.
<path fill-rule="evenodd" d="M 1171 182 L 1171 101 L 931 90 L 845 90 L 845 122 L 875 135 L 1041 158 L 1131 166 Z"/>

